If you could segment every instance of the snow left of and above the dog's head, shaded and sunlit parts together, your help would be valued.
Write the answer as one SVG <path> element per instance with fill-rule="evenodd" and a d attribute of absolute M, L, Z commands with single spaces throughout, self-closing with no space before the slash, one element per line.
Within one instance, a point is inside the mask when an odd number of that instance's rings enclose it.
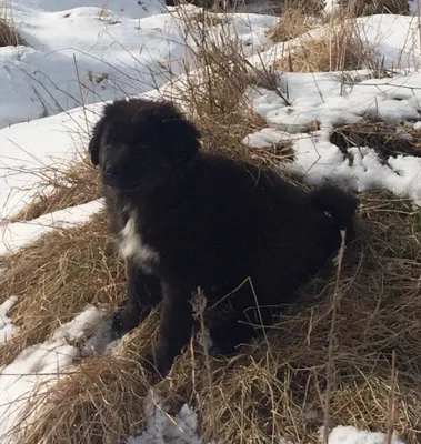
<path fill-rule="evenodd" d="M 153 95 L 191 62 L 181 18 L 161 13 L 158 0 L 107 2 L 100 20 L 102 3 L 74 0 L 61 9 L 52 0 L 12 1 L 29 46 L 0 48 L 0 224 L 37 193 L 42 169 L 64 169 L 86 153 L 104 101 Z M 229 26 L 252 54 L 274 23 L 239 13 Z M 192 38 L 188 46 L 194 48 Z"/>

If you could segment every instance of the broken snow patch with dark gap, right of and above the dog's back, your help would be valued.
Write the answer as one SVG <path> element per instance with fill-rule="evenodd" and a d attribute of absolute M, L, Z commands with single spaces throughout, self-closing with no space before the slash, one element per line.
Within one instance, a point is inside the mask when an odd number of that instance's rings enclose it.
<path fill-rule="evenodd" d="M 291 91 L 290 104 L 273 91 L 252 91 L 254 110 L 267 120 L 265 128 L 244 139 L 249 147 L 270 147 L 292 140 L 295 160 L 287 169 L 303 174 L 311 184 L 325 180 L 347 184 L 358 191 L 388 189 L 421 205 L 421 158 L 398 155 L 381 162 L 374 150 L 354 147 L 349 159 L 329 140 L 334 125 L 374 119 L 393 125 L 403 121 L 417 128 L 421 119 L 421 73 L 391 79 L 370 79 L 343 87 L 338 74 L 284 73 Z M 319 131 L 309 132 L 314 122 Z M 410 138 L 404 127 L 400 137 Z"/>

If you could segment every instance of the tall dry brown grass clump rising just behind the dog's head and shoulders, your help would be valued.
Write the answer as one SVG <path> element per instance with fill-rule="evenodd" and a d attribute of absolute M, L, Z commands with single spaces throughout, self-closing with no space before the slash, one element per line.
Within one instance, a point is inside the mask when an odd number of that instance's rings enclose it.
<path fill-rule="evenodd" d="M 248 63 L 243 43 L 233 36 L 230 20 L 223 20 L 224 24 L 212 31 L 202 26 L 212 14 L 203 12 L 201 20 L 191 20 L 184 11 L 178 13 L 181 33 L 193 44 L 189 48 L 191 61 L 186 64 L 183 77 L 174 82 L 171 94 L 201 129 L 202 149 L 232 159 L 261 159 L 265 164 L 273 160 L 279 165 L 280 150 L 267 150 L 252 158 L 241 143 L 245 135 L 265 125 L 253 111 L 247 91 L 257 84 L 277 90 L 277 77 Z M 192 72 L 192 67 L 197 71 Z"/>

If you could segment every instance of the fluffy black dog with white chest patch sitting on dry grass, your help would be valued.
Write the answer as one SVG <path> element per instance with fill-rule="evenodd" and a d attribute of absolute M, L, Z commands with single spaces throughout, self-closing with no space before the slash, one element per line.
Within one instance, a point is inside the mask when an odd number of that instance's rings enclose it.
<path fill-rule="evenodd" d="M 238 322 L 245 309 L 289 302 L 338 251 L 340 230 L 353 234 L 355 198 L 332 186 L 304 193 L 274 172 L 199 147 L 198 129 L 173 104 L 140 99 L 108 104 L 89 144 L 128 261 L 128 305 L 113 329 L 136 327 L 162 299 L 161 374 L 189 341 L 198 286 L 211 302 L 237 289 L 235 322 L 213 333 L 230 349 L 245 339 Z"/>

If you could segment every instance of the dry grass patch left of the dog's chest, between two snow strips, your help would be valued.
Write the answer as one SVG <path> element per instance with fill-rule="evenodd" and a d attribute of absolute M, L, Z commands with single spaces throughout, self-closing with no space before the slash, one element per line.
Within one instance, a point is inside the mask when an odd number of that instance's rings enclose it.
<path fill-rule="evenodd" d="M 108 235 L 106 215 L 86 226 L 57 231 L 3 260 L 2 300 L 17 295 L 13 320 L 21 327 L 0 346 L 0 363 L 11 362 L 24 347 L 42 342 L 87 304 L 116 309 L 124 297 L 124 265 Z"/>

